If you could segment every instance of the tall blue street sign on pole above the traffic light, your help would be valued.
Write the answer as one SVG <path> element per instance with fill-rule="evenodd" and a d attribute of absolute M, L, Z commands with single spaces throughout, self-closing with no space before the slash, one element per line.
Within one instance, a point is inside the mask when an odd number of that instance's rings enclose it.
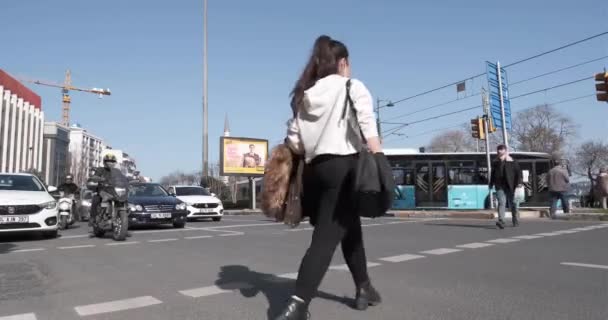
<path fill-rule="evenodd" d="M 500 87 L 498 81 L 498 68 L 496 64 L 486 61 L 486 75 L 488 78 L 488 92 L 490 96 L 490 116 L 494 126 L 502 129 L 502 113 L 500 112 Z M 500 68 L 500 81 L 502 82 L 502 101 L 505 108 L 505 124 L 511 131 L 511 102 L 509 101 L 509 84 L 507 72 Z"/>

